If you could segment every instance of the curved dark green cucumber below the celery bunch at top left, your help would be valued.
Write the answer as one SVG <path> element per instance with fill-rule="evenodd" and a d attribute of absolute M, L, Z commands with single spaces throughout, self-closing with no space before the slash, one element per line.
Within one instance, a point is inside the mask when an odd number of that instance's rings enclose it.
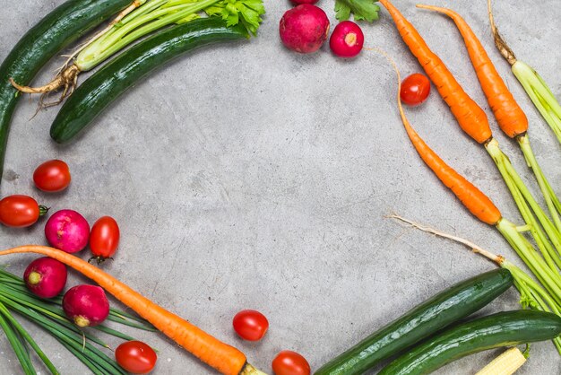
<path fill-rule="evenodd" d="M 220 18 L 211 17 L 174 26 L 143 40 L 92 74 L 73 92 L 51 126 L 51 137 L 57 143 L 70 141 L 129 87 L 173 58 L 194 48 L 247 37 L 241 22 L 226 26 Z"/>

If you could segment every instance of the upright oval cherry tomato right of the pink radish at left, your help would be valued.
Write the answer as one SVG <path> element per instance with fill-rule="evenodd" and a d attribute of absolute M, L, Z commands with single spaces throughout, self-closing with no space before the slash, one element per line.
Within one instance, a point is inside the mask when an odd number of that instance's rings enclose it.
<path fill-rule="evenodd" d="M 115 219 L 103 216 L 93 224 L 90 232 L 90 249 L 93 257 L 103 261 L 113 257 L 119 246 L 121 233 Z"/>

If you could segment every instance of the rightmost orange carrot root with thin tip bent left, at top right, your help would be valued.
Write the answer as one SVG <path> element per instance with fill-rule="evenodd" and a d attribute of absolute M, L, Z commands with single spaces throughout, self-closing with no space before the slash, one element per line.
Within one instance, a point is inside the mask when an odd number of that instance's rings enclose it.
<path fill-rule="evenodd" d="M 526 115 L 516 100 L 514 100 L 513 94 L 508 90 L 505 82 L 496 71 L 495 65 L 488 57 L 478 37 L 471 30 L 470 25 L 462 19 L 460 14 L 453 12 L 451 9 L 421 4 L 418 4 L 417 7 L 444 13 L 452 18 L 468 48 L 471 64 L 478 75 L 481 88 L 485 92 L 488 103 L 495 114 L 498 126 L 511 138 L 526 133 L 528 130 L 528 118 L 526 118 Z"/>

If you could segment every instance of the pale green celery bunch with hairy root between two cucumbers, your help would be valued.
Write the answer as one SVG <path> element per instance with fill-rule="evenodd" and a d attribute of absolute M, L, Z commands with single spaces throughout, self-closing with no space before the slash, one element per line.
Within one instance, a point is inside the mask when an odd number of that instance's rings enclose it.
<path fill-rule="evenodd" d="M 58 104 L 72 94 L 78 74 L 87 72 L 114 56 L 134 41 L 174 24 L 193 21 L 206 14 L 220 17 L 229 26 L 241 22 L 254 34 L 265 13 L 262 0 L 135 0 L 66 60 L 55 79 L 41 87 L 21 86 L 20 92 L 48 94 L 63 90 Z"/>

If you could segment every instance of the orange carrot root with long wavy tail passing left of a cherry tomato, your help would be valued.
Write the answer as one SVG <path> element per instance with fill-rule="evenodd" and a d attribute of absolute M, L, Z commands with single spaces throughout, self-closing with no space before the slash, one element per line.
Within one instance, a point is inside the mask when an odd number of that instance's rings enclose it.
<path fill-rule="evenodd" d="M 385 55 L 385 54 L 384 54 Z M 460 173 L 453 170 L 445 161 L 443 161 L 423 139 L 417 134 L 415 129 L 410 125 L 409 120 L 405 117 L 403 106 L 401 105 L 401 76 L 397 65 L 393 60 L 385 55 L 386 58 L 392 63 L 398 77 L 398 94 L 397 104 L 400 110 L 401 121 L 405 127 L 405 131 L 409 136 L 411 143 L 415 146 L 417 153 L 428 168 L 430 168 L 442 183 L 452 190 L 453 194 L 462 201 L 462 204 L 470 210 L 470 213 L 476 216 L 481 222 L 487 222 L 489 225 L 496 225 L 501 221 L 502 215 L 496 205 L 483 194 L 479 188 L 476 188 L 470 181 L 465 179 Z M 1 255 L 1 253 L 0 253 Z"/>

